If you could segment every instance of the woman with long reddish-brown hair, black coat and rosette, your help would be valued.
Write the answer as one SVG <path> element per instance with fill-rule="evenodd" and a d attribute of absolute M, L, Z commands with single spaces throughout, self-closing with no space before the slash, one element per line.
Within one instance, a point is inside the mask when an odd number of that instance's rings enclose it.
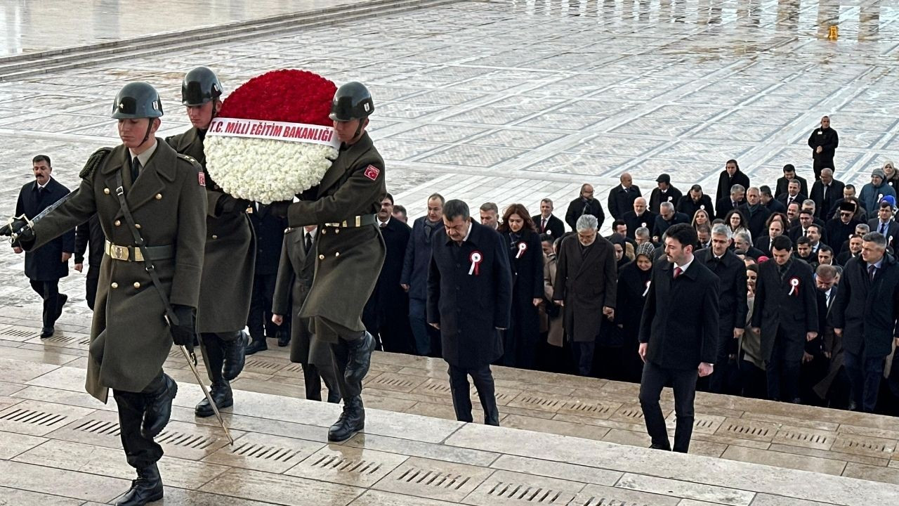
<path fill-rule="evenodd" d="M 503 212 L 499 227 L 512 267 L 512 325 L 503 335 L 503 366 L 533 369 L 543 301 L 543 248 L 530 213 L 521 203 Z"/>

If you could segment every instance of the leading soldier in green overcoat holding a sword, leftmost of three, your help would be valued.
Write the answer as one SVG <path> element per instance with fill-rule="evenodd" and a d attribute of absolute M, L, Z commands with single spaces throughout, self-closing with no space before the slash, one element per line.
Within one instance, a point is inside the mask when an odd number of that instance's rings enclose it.
<path fill-rule="evenodd" d="M 31 225 L 15 220 L 0 230 L 33 249 L 94 213 L 99 218 L 106 244 L 86 389 L 102 402 L 112 389 L 122 447 L 138 471 L 120 506 L 163 496 L 156 468 L 163 448 L 153 438 L 169 420 L 177 385 L 162 366 L 173 340 L 191 346 L 200 296 L 206 238 L 202 174 L 195 161 L 156 139 L 162 114 L 153 86 L 124 86 L 112 105 L 122 144 L 95 152 L 80 174 L 81 185 L 54 211 Z"/>

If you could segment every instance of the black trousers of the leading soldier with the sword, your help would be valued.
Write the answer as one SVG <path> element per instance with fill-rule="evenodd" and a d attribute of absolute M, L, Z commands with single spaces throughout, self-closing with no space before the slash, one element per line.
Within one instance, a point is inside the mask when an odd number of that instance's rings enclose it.
<path fill-rule="evenodd" d="M 163 447 L 153 439 L 140 435 L 140 423 L 144 420 L 144 409 L 150 396 L 165 389 L 162 370 L 142 392 L 112 390 L 112 397 L 119 406 L 119 428 L 121 447 L 125 449 L 128 465 L 142 469 L 154 465 L 163 456 Z"/>

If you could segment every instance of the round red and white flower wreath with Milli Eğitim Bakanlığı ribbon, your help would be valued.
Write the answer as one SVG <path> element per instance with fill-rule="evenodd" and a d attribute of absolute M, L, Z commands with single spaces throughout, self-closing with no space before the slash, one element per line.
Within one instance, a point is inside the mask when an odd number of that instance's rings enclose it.
<path fill-rule="evenodd" d="M 305 70 L 272 70 L 228 95 L 204 140 L 222 190 L 260 203 L 319 184 L 340 141 L 328 113 L 337 87 Z"/>

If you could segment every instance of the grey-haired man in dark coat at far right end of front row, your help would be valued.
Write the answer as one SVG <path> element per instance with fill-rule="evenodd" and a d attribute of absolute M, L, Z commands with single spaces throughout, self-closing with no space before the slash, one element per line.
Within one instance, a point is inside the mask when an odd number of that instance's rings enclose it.
<path fill-rule="evenodd" d="M 861 258 L 843 270 L 832 318 L 856 408 L 873 412 L 884 359 L 899 346 L 899 263 L 886 255 L 884 236 L 869 232 L 862 239 Z"/>

